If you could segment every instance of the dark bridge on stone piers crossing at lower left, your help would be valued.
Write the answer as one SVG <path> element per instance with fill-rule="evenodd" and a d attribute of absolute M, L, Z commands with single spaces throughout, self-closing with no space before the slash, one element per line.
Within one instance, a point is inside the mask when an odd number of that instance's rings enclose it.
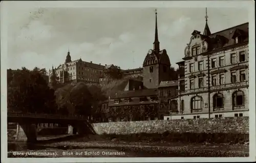
<path fill-rule="evenodd" d="M 29 143 L 37 141 L 37 124 L 41 123 L 68 125 L 69 134 L 96 134 L 88 118 L 80 115 L 8 112 L 7 121 L 18 124 L 15 139 Z"/>

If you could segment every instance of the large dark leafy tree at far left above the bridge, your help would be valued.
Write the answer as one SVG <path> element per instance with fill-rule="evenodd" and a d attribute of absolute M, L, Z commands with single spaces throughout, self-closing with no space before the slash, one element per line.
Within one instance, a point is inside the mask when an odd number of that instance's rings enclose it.
<path fill-rule="evenodd" d="M 48 87 L 42 75 L 26 67 L 7 74 L 8 109 L 22 112 L 55 113 L 54 90 Z"/>

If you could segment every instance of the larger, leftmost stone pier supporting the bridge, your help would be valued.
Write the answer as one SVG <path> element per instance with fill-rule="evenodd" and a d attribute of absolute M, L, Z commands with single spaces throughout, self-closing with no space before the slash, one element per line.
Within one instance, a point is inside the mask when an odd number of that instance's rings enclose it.
<path fill-rule="evenodd" d="M 36 142 L 37 129 L 35 124 L 17 124 L 16 141 Z"/>

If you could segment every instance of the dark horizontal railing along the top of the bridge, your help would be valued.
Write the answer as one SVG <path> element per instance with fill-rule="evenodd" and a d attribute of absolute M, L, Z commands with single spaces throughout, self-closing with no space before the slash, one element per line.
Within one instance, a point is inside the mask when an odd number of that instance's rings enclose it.
<path fill-rule="evenodd" d="M 43 118 L 43 119 L 64 119 L 64 120 L 88 120 L 83 115 L 54 115 L 38 113 L 8 112 L 7 117 Z"/>

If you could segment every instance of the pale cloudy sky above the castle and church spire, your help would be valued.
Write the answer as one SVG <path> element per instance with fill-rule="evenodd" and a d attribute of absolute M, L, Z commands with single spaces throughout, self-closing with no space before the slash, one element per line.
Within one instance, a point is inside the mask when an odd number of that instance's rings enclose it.
<path fill-rule="evenodd" d="M 178 67 L 194 30 L 203 33 L 205 8 L 157 8 L 160 49 Z M 215 33 L 248 22 L 246 8 L 207 8 Z M 153 49 L 155 8 L 10 8 L 7 68 L 49 68 L 71 59 L 142 67 Z"/>

